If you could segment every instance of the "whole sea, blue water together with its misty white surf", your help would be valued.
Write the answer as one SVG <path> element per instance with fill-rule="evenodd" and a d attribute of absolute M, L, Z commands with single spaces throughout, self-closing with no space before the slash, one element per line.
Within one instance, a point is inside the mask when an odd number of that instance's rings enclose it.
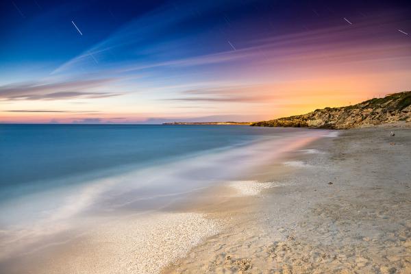
<path fill-rule="evenodd" d="M 97 220 L 171 210 L 203 188 L 256 179 L 262 166 L 325 133 L 239 125 L 0 125 L 0 269 Z"/>

